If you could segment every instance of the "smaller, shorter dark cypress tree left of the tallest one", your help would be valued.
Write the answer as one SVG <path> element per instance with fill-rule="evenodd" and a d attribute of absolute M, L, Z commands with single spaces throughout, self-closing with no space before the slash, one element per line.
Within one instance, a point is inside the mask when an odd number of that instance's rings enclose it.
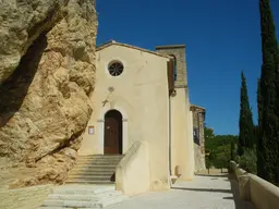
<path fill-rule="evenodd" d="M 241 73 L 241 96 L 240 96 L 240 135 L 238 153 L 242 156 L 244 148 L 253 148 L 254 146 L 254 123 L 252 110 L 248 102 L 247 85 L 244 73 Z"/>

